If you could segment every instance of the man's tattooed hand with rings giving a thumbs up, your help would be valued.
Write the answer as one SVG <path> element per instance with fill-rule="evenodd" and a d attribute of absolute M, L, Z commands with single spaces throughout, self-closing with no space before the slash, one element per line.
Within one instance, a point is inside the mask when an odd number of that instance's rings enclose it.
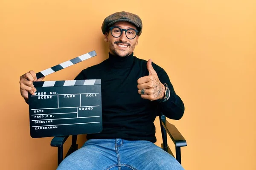
<path fill-rule="evenodd" d="M 157 72 L 152 66 L 152 59 L 149 59 L 147 62 L 147 69 L 149 72 L 148 76 L 140 77 L 137 80 L 138 93 L 141 98 L 148 100 L 157 100 L 163 99 L 164 97 L 164 85 L 158 79 Z"/>

